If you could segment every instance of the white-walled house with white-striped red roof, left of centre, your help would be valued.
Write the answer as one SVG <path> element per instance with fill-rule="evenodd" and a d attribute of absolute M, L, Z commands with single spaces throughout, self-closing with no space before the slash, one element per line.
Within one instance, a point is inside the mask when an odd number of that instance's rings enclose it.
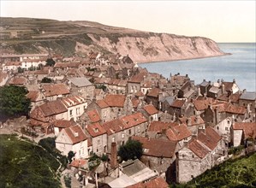
<path fill-rule="evenodd" d="M 87 109 L 86 99 L 80 96 L 69 96 L 61 99 L 68 110 L 68 120 L 80 120 L 80 115 Z"/>

